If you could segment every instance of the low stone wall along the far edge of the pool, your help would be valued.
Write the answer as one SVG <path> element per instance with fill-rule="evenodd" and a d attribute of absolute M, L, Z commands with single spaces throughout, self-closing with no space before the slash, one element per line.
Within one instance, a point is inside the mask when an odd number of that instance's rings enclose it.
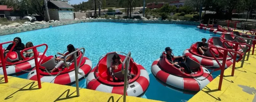
<path fill-rule="evenodd" d="M 162 23 L 162 24 L 185 24 L 185 25 L 195 25 L 198 26 L 199 22 L 188 22 L 188 21 L 143 21 L 143 20 L 72 20 L 72 21 L 65 21 L 65 22 L 57 22 L 57 23 L 48 23 L 48 24 L 39 24 L 39 25 L 31 25 L 31 26 L 22 26 L 22 27 L 13 27 L 7 29 L 0 29 L 0 36 L 20 33 L 25 31 L 43 29 L 68 25 L 68 24 L 75 24 L 75 23 L 82 23 L 82 22 L 119 22 L 119 23 Z"/>

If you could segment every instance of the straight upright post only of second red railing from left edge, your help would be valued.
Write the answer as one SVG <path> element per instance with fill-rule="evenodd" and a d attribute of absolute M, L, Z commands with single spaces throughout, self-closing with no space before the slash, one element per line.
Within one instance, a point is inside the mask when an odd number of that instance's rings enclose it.
<path fill-rule="evenodd" d="M 37 76 L 37 82 L 38 82 L 38 88 L 41 89 L 41 79 L 40 79 L 40 73 L 39 73 L 39 62 L 37 59 L 37 49 L 33 48 L 33 52 L 34 52 L 34 59 L 35 59 L 35 65 L 36 65 L 36 76 Z"/>

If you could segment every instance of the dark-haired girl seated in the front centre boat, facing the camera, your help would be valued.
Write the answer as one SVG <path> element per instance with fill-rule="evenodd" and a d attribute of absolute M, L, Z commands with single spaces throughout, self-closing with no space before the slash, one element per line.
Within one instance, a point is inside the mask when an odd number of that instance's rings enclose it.
<path fill-rule="evenodd" d="M 114 76 L 113 71 L 114 71 L 114 70 L 117 70 L 117 69 L 119 68 L 118 65 L 119 65 L 119 64 L 122 64 L 122 63 L 123 63 L 123 62 L 122 62 L 120 56 L 119 56 L 117 53 L 114 54 L 114 56 L 113 56 L 112 59 L 111 59 L 111 64 L 110 64 L 111 67 L 109 67 L 109 69 L 108 69 L 108 71 L 109 71 L 111 77 L 113 78 L 113 81 L 117 81 L 117 80 L 115 79 L 115 76 Z M 128 73 L 129 73 L 129 72 L 128 72 Z M 136 75 L 131 74 L 131 76 L 134 77 L 134 76 L 136 76 Z"/>

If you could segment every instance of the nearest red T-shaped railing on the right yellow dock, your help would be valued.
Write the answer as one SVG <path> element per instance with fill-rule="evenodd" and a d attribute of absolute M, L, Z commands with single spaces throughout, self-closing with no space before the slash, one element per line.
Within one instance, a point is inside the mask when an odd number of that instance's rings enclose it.
<path fill-rule="evenodd" d="M 222 60 L 222 65 L 220 64 L 220 62 L 218 61 L 218 59 L 215 57 L 215 55 L 213 54 L 213 49 L 217 49 L 217 50 L 223 50 L 223 60 Z M 222 80 L 223 80 L 223 75 L 224 75 L 224 70 L 225 70 L 225 64 L 226 64 L 226 60 L 232 60 L 232 58 L 227 59 L 227 55 L 228 55 L 228 51 L 229 52 L 233 52 L 233 53 L 237 53 L 240 57 L 238 60 L 236 60 L 236 62 L 239 62 L 242 59 L 242 55 L 239 52 L 236 51 L 231 51 L 231 50 L 227 50 L 227 49 L 223 49 L 223 48 L 217 48 L 217 47 L 211 47 L 209 48 L 212 56 L 214 57 L 214 59 L 217 61 L 217 63 L 219 64 L 220 68 L 221 68 L 221 72 L 220 72 L 220 81 L 219 81 L 219 87 L 218 90 L 221 90 L 221 85 L 222 85 Z M 235 61 L 235 60 L 233 60 Z"/>

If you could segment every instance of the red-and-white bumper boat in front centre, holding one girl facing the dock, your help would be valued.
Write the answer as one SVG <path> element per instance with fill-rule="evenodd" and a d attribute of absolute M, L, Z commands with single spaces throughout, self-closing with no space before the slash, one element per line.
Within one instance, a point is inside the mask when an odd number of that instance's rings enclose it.
<path fill-rule="evenodd" d="M 114 54 L 119 52 L 110 52 L 106 55 L 103 55 L 102 59 L 99 60 L 97 66 L 89 73 L 87 79 L 91 81 L 86 81 L 87 89 L 97 90 L 108 93 L 115 93 L 123 95 L 124 91 L 124 74 L 122 74 L 122 64 L 119 65 L 117 70 L 114 70 L 114 76 L 118 82 L 113 82 L 111 75 L 108 72 L 108 68 L 111 64 L 111 59 Z M 121 52 L 123 53 L 123 52 Z M 126 56 L 118 54 L 123 61 Z M 101 58 L 100 57 L 100 58 Z M 141 97 L 145 94 L 149 86 L 149 75 L 145 68 L 134 62 L 132 58 L 130 58 L 129 63 L 130 68 L 128 69 L 131 74 L 136 74 L 135 77 L 130 79 L 129 86 L 127 88 L 128 96 Z M 128 73 L 128 77 L 131 77 Z"/>

